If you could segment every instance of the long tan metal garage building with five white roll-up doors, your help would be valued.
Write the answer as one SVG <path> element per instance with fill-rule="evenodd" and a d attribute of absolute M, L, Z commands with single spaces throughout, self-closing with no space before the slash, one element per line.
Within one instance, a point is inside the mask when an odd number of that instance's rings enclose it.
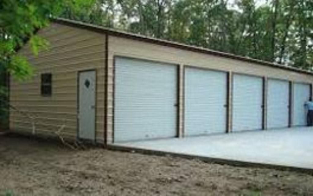
<path fill-rule="evenodd" d="M 81 22 L 38 32 L 50 50 L 10 81 L 10 129 L 98 143 L 305 126 L 308 71 Z"/>

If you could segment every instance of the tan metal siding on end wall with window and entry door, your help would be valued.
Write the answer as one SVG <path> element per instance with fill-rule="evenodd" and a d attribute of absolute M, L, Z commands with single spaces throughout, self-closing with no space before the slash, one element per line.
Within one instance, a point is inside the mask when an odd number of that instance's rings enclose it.
<path fill-rule="evenodd" d="M 38 35 L 46 38 L 50 47 L 34 57 L 28 45 L 20 50 L 34 65 L 31 80 L 16 82 L 11 79 L 10 102 L 21 111 L 36 116 L 36 131 L 55 135 L 65 124 L 62 135 L 77 135 L 77 76 L 78 71 L 97 69 L 96 140 L 104 142 L 105 104 L 105 35 L 61 24 L 51 24 Z M 52 73 L 52 96 L 40 95 L 40 74 Z M 13 131 L 32 131 L 29 118 L 10 111 L 10 128 Z"/>

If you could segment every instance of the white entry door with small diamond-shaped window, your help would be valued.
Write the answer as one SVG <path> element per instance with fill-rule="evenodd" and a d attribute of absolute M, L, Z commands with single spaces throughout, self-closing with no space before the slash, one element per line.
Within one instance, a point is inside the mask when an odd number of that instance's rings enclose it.
<path fill-rule="evenodd" d="M 79 138 L 95 140 L 95 71 L 79 73 Z"/>

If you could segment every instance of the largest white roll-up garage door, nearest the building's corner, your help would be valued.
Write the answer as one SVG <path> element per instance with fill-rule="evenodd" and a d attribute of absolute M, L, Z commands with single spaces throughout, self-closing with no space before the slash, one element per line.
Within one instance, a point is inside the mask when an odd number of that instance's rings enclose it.
<path fill-rule="evenodd" d="M 114 141 L 177 135 L 177 66 L 115 59 Z"/>

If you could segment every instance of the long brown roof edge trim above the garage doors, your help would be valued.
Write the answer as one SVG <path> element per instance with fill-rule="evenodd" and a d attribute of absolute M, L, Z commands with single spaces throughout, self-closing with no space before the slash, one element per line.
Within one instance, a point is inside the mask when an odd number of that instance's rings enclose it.
<path fill-rule="evenodd" d="M 263 60 L 252 59 L 252 58 L 244 57 L 244 56 L 233 55 L 233 54 L 220 52 L 220 51 L 216 51 L 216 50 L 210 50 L 210 49 L 201 48 L 201 47 L 197 47 L 197 46 L 191 46 L 191 45 L 181 44 L 181 43 L 177 43 L 177 42 L 151 38 L 151 37 L 142 36 L 142 35 L 138 35 L 138 34 L 134 34 L 134 33 L 115 30 L 115 29 L 111 29 L 111 28 L 106 28 L 103 26 L 88 24 L 85 22 L 79 22 L 79 21 L 74 21 L 74 20 L 69 20 L 69 19 L 64 19 L 64 18 L 53 18 L 52 21 L 59 23 L 59 24 L 64 24 L 67 26 L 73 26 L 73 27 L 88 29 L 91 31 L 99 32 L 99 33 L 105 33 L 105 34 L 108 34 L 111 36 L 125 37 L 125 38 L 129 38 L 129 39 L 138 40 L 138 41 L 145 41 L 145 42 L 149 42 L 149 43 L 153 43 L 153 44 L 157 44 L 157 45 L 169 46 L 169 47 L 174 47 L 174 48 L 178 48 L 178 49 L 182 49 L 182 50 L 189 50 L 189 51 L 199 52 L 199 53 L 204 53 L 204 54 L 209 54 L 209 55 L 216 55 L 216 56 L 226 57 L 226 58 L 230 58 L 230 59 L 241 60 L 241 61 L 245 61 L 245 62 L 249 62 L 249 63 L 256 63 L 259 65 L 274 67 L 274 68 L 278 68 L 278 69 L 285 69 L 285 70 L 289 70 L 289 71 L 313 75 L 313 72 L 310 72 L 310 71 L 304 70 L 304 69 L 299 69 L 299 68 L 286 66 L 286 65 L 280 65 L 280 64 L 276 64 L 276 63 L 263 61 Z"/>

